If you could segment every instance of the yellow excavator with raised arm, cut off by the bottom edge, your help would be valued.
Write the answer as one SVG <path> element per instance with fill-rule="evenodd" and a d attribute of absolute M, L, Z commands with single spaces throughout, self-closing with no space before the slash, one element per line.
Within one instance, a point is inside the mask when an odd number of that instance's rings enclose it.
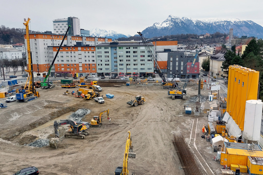
<path fill-rule="evenodd" d="M 136 153 L 133 152 L 133 145 L 131 143 L 131 133 L 128 131 L 128 136 L 125 144 L 125 152 L 123 158 L 123 166 L 115 169 L 115 175 L 128 175 L 128 158 L 136 158 Z"/>

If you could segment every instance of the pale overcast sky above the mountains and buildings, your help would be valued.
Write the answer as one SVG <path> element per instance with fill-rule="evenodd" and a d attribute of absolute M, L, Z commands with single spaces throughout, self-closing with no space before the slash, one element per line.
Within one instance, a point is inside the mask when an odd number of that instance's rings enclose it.
<path fill-rule="evenodd" d="M 135 35 L 169 15 L 192 19 L 238 18 L 263 26 L 263 0 L 13 0 L 0 1 L 0 25 L 24 28 L 24 18 L 31 18 L 29 29 L 52 31 L 52 20 L 77 17 L 80 28 L 100 28 Z"/>

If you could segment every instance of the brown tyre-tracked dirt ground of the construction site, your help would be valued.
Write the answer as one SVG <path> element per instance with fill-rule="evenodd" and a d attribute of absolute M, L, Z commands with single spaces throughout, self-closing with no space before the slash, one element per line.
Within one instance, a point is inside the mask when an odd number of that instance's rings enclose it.
<path fill-rule="evenodd" d="M 186 100 L 167 95 L 160 83 L 114 87 L 98 83 L 103 91 L 104 104 L 95 100 L 62 95 L 66 90 L 56 86 L 41 89 L 40 97 L 28 103 L 12 102 L 0 110 L 0 174 L 12 174 L 29 166 L 36 166 L 39 174 L 114 174 L 117 166 L 123 166 L 126 137 L 131 132 L 136 159 L 129 159 L 129 173 L 135 174 L 184 174 L 184 168 L 175 151 L 172 136 L 181 132 L 189 144 L 200 172 L 214 174 L 221 169 L 212 161 L 216 152 L 210 142 L 201 138 L 202 126 L 208 116 L 201 110 L 200 116 L 185 114 L 184 105 L 195 109 L 198 90 L 196 84 L 188 84 Z M 209 91 L 201 91 L 207 95 Z M 107 93 L 114 98 L 106 98 Z M 145 97 L 146 102 L 137 107 L 126 102 L 135 96 Z M 205 107 L 208 107 L 206 101 Z M 214 101 L 214 103 L 216 103 Z M 199 105 L 200 107 L 200 105 Z M 93 116 L 109 109 L 111 122 L 102 115 L 100 128 L 89 128 L 85 139 L 60 137 L 58 148 L 26 146 L 37 139 L 54 137 L 54 120 L 67 119 L 78 109 L 89 109 L 82 121 L 90 122 Z M 64 132 L 68 126 L 60 126 Z M 63 134 L 60 134 L 62 136 Z"/>

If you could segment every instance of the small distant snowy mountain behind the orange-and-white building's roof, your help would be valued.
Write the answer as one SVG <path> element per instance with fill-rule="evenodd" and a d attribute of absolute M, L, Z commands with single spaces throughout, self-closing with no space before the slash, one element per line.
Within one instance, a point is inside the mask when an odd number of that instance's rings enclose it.
<path fill-rule="evenodd" d="M 97 36 L 97 37 L 107 37 L 107 38 L 112 38 L 112 39 L 118 39 L 121 37 L 130 37 L 131 35 L 124 35 L 121 33 L 117 33 L 116 31 L 113 30 L 103 30 L 99 28 L 94 28 L 89 31 L 90 36 Z"/>

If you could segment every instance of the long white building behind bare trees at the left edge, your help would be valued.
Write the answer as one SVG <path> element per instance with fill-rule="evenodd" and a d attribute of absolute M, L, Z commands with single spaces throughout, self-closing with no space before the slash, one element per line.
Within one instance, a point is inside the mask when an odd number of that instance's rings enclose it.
<path fill-rule="evenodd" d="M 21 59 L 22 51 L 11 47 L 0 48 L 0 59 Z"/>

